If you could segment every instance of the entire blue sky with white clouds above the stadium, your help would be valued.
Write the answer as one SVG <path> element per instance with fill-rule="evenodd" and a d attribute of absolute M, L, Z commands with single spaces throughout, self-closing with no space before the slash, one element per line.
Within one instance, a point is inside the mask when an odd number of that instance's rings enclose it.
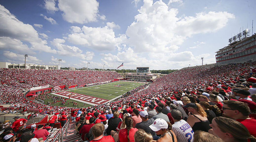
<path fill-rule="evenodd" d="M 0 0 L 0 61 L 166 70 L 216 63 L 256 1 Z M 254 24 L 255 25 L 255 24 Z M 254 29 L 254 32 L 256 29 Z"/>

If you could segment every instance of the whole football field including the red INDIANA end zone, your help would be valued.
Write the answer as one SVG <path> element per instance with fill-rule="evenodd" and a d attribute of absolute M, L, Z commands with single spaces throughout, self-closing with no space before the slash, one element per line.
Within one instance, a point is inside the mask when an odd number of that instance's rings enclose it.
<path fill-rule="evenodd" d="M 84 88 L 66 90 L 51 93 L 65 98 L 70 98 L 76 102 L 81 102 L 89 105 L 98 105 L 115 100 L 124 93 L 129 92 L 146 82 L 134 81 L 118 81 L 107 84 L 88 86 Z"/>

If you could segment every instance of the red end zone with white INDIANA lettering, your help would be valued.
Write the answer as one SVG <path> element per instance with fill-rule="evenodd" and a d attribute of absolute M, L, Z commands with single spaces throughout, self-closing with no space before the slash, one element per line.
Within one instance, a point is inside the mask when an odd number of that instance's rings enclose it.
<path fill-rule="evenodd" d="M 73 93 L 73 92 L 69 92 L 69 91 L 62 91 L 62 92 L 56 92 L 56 93 L 52 93 L 58 96 L 62 96 L 62 97 L 66 97 L 70 99 L 72 98 L 72 100 L 77 100 L 83 103 L 88 103 L 91 105 L 99 105 L 99 104 L 103 104 L 109 100 L 106 99 L 101 99 L 98 97 L 93 97 L 93 96 L 88 96 L 88 95 L 84 95 L 84 94 L 78 94 L 78 93 Z"/>

